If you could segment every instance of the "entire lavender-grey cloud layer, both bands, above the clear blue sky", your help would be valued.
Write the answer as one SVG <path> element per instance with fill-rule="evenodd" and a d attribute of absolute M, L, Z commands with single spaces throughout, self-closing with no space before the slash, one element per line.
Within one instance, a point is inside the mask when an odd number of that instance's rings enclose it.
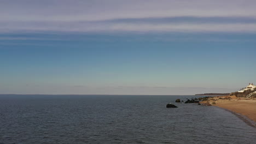
<path fill-rule="evenodd" d="M 0 32 L 256 32 L 256 1 L 4 1 Z"/>

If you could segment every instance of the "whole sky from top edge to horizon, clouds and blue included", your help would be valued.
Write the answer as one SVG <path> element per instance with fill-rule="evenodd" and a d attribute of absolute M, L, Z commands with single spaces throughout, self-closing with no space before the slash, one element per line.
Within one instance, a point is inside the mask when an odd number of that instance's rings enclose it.
<path fill-rule="evenodd" d="M 0 0 L 0 93 L 230 93 L 256 83 L 254 0 Z"/>

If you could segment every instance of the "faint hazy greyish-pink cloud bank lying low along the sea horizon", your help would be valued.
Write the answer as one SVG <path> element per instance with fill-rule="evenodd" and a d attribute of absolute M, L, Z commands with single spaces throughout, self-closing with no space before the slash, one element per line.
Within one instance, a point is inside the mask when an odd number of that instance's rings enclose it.
<path fill-rule="evenodd" d="M 19 86 L 19 88 L 16 89 L 9 89 L 2 86 L 0 91 L 5 92 L 6 94 L 191 95 L 199 93 L 230 93 L 237 91 L 237 88 Z"/>

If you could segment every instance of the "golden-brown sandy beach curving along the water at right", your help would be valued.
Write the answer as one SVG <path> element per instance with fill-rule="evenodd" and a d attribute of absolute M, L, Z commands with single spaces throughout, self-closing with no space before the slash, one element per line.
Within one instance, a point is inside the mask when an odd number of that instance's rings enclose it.
<path fill-rule="evenodd" d="M 211 104 L 246 116 L 256 122 L 256 99 L 237 98 L 236 96 L 212 97 L 201 104 Z"/>

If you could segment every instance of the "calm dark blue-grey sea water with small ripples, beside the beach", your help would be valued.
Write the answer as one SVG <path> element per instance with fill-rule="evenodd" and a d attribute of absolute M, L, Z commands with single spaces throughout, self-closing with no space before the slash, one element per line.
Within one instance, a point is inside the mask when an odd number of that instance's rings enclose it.
<path fill-rule="evenodd" d="M 228 111 L 174 103 L 192 97 L 0 95 L 0 143 L 255 143 Z"/>

